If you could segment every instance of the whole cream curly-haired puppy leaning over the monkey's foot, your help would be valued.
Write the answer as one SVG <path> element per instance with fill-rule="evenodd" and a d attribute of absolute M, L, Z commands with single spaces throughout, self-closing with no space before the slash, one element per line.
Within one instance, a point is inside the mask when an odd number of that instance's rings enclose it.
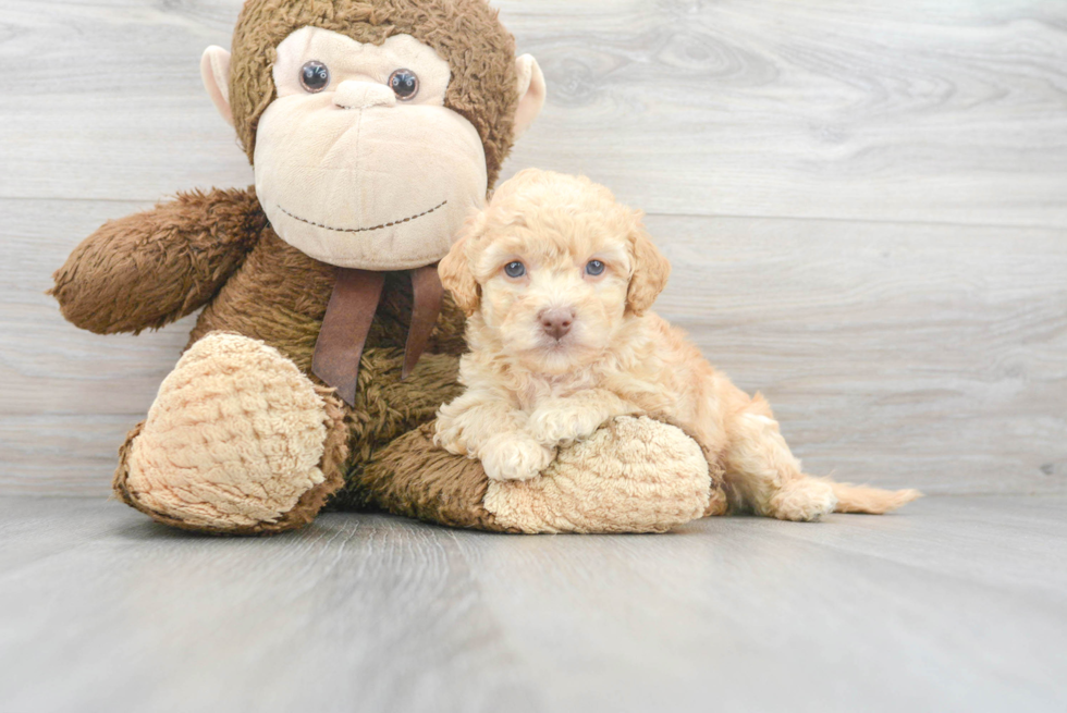
<path fill-rule="evenodd" d="M 648 311 L 671 268 L 641 217 L 588 179 L 527 170 L 467 222 L 440 265 L 469 318 L 467 391 L 441 408 L 437 443 L 479 458 L 490 478 L 528 479 L 561 444 L 647 414 L 725 469 L 732 509 L 812 520 L 917 497 L 801 472 L 762 396 L 737 389 Z"/>

